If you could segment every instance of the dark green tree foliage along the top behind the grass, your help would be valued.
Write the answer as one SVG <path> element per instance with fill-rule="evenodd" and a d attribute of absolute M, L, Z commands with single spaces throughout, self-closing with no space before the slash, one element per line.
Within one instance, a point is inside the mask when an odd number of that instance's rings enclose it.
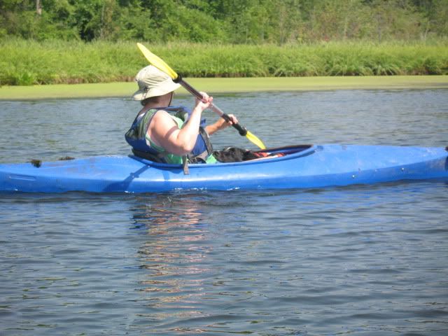
<path fill-rule="evenodd" d="M 0 38 L 300 43 L 448 35 L 448 0 L 1 0 Z"/>

